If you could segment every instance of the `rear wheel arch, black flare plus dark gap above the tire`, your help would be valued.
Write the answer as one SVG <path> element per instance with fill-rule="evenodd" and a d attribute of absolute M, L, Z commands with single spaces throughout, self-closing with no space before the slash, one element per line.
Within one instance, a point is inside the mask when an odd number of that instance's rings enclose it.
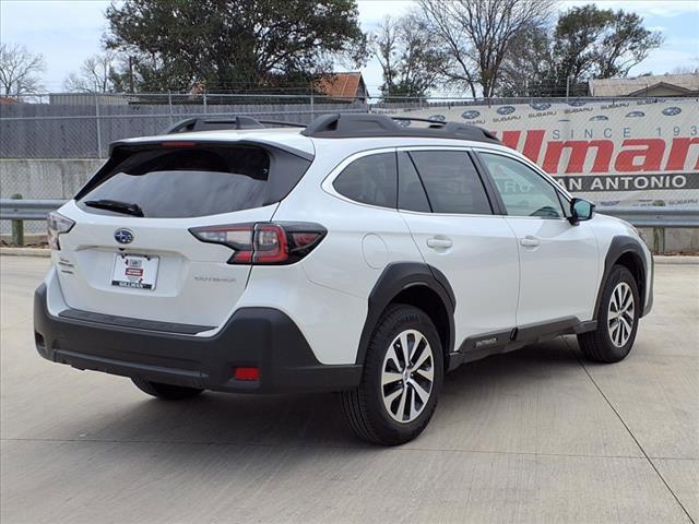
<path fill-rule="evenodd" d="M 406 303 L 422 309 L 439 333 L 445 361 L 454 345 L 457 299 L 447 277 L 438 269 L 420 262 L 394 262 L 386 266 L 368 299 L 356 364 L 364 364 L 369 340 L 386 308 Z"/>

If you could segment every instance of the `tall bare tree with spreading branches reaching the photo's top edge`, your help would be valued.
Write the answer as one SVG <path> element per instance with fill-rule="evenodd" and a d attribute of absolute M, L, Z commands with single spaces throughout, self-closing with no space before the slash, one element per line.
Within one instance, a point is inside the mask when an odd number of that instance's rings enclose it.
<path fill-rule="evenodd" d="M 423 14 L 451 57 L 446 76 L 476 96 L 494 95 L 514 35 L 550 16 L 555 0 L 418 0 Z"/>

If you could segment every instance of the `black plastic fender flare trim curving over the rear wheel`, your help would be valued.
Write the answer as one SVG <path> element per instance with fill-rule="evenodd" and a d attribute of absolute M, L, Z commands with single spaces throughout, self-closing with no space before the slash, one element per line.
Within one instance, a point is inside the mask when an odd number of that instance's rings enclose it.
<path fill-rule="evenodd" d="M 412 286 L 425 286 L 435 291 L 441 299 L 449 319 L 449 342 L 443 348 L 450 353 L 454 345 L 454 309 L 457 297 L 445 274 L 437 267 L 424 262 L 393 262 L 383 269 L 369 294 L 367 318 L 364 322 L 356 364 L 364 364 L 371 333 L 383 310 L 403 290 Z"/>

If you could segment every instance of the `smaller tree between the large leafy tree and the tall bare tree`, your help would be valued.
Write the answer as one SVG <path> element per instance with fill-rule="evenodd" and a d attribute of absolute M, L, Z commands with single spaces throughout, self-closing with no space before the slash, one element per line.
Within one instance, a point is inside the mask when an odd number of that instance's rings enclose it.
<path fill-rule="evenodd" d="M 383 19 L 371 35 L 371 48 L 383 71 L 384 99 L 425 96 L 443 68 L 445 55 L 431 47 L 431 36 L 416 13 Z"/>

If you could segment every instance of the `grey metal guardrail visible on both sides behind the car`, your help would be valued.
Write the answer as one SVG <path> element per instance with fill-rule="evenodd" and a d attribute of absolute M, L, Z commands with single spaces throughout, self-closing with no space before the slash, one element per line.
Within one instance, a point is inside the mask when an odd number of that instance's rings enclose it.
<path fill-rule="evenodd" d="M 44 221 L 64 203 L 64 200 L 0 199 L 0 221 Z M 597 209 L 596 212 L 616 216 L 637 227 L 699 227 L 699 209 L 612 207 Z"/>

